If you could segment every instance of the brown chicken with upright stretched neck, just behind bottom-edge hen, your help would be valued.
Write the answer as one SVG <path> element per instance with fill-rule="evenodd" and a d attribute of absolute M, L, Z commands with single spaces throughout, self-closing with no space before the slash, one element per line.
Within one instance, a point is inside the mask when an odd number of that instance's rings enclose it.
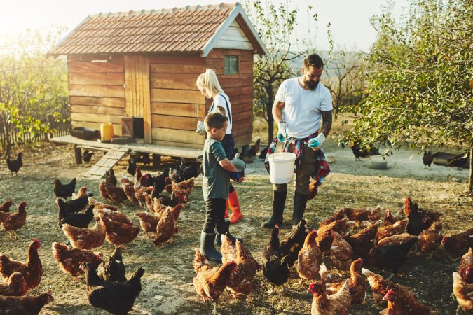
<path fill-rule="evenodd" d="M 352 304 L 361 304 L 364 302 L 366 295 L 366 276 L 362 274 L 363 260 L 358 258 L 353 260 L 350 265 L 350 281 L 348 282 L 348 289 L 352 296 Z M 336 283 L 325 283 L 327 287 L 327 294 L 336 293 L 345 284 L 345 281 Z"/>

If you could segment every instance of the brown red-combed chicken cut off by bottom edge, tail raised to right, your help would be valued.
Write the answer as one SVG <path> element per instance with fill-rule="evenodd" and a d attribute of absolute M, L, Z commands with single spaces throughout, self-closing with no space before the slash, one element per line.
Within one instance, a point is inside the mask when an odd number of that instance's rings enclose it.
<path fill-rule="evenodd" d="M 352 297 L 348 288 L 348 279 L 337 293 L 327 295 L 327 290 L 323 281 L 310 283 L 308 292 L 313 294 L 312 307 L 310 314 L 312 315 L 348 315 L 348 309 Z"/>

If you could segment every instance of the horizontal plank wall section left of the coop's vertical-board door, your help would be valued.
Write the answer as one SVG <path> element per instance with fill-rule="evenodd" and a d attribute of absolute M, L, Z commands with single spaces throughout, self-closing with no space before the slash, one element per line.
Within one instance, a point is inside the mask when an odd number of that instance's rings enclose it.
<path fill-rule="evenodd" d="M 94 62 L 101 60 L 102 62 Z M 113 123 L 121 135 L 125 116 L 123 56 L 68 56 L 71 125 L 100 130 L 101 123 Z"/>

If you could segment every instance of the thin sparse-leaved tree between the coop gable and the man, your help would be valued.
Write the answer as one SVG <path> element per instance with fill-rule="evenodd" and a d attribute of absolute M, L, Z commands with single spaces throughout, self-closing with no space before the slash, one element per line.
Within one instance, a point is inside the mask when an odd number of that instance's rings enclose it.
<path fill-rule="evenodd" d="M 299 9 L 291 10 L 289 6 L 290 1 L 276 7 L 270 0 L 264 3 L 260 0 L 246 1 L 243 4 L 245 12 L 269 50 L 267 56 L 255 56 L 253 63 L 253 112 L 268 123 L 268 141 L 273 140 L 274 120 L 271 109 L 277 88 L 283 80 L 296 74 L 292 70 L 292 62 L 307 53 L 307 50 L 299 47 L 308 47 L 311 38 L 308 31 L 304 41 L 294 40 Z M 309 7 L 309 11 L 312 10 Z M 317 21 L 317 15 L 311 16 L 309 24 Z"/>

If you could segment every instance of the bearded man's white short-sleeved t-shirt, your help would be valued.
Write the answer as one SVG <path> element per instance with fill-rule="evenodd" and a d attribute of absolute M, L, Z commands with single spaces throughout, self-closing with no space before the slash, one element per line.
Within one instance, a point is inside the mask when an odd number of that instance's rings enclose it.
<path fill-rule="evenodd" d="M 321 111 L 331 111 L 331 94 L 319 83 L 315 90 L 306 90 L 291 78 L 281 83 L 275 99 L 284 102 L 282 121 L 287 123 L 288 136 L 305 138 L 320 128 Z"/>

